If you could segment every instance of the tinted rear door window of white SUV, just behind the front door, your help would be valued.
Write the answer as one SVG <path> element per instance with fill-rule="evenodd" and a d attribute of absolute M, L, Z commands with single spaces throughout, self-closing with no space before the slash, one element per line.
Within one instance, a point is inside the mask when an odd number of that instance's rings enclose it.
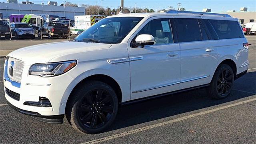
<path fill-rule="evenodd" d="M 178 33 L 178 42 L 193 42 L 202 40 L 197 19 L 176 18 L 175 23 Z"/>

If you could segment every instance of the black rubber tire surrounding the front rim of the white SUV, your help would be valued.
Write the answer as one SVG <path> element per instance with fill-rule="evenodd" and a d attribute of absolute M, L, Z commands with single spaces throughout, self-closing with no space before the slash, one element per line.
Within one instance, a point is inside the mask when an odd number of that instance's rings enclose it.
<path fill-rule="evenodd" d="M 73 104 L 71 104 L 73 106 L 72 106 L 72 110 L 71 110 L 71 114 L 70 114 L 70 116 L 71 116 L 70 123 L 72 126 L 75 125 L 81 132 L 88 133 L 88 134 L 96 134 L 98 132 L 105 130 L 114 122 L 114 120 L 116 118 L 117 111 L 118 111 L 118 98 L 117 98 L 114 90 L 108 84 L 105 84 L 103 82 L 92 81 L 92 82 L 85 84 L 82 87 L 83 87 L 82 89 L 78 90 L 78 92 L 75 95 L 73 95 L 74 100 L 72 101 Z M 80 99 L 82 99 L 83 96 L 85 96 L 88 92 L 90 92 L 92 90 L 96 90 L 96 89 L 106 90 L 112 96 L 113 101 L 114 101 L 113 114 L 112 114 L 110 120 L 108 122 L 106 122 L 106 124 L 104 124 L 104 126 L 102 126 L 100 128 L 88 128 L 88 127 L 84 126 L 84 124 L 82 124 L 79 120 L 79 115 L 78 115 L 78 108 L 79 108 L 79 104 L 80 104 L 79 102 L 80 102 Z"/>

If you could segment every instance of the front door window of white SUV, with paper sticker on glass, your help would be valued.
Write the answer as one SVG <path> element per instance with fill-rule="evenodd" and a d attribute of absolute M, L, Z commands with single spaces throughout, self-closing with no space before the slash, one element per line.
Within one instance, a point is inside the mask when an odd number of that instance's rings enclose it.
<path fill-rule="evenodd" d="M 151 34 L 155 38 L 154 44 L 173 43 L 169 19 L 151 20 L 140 30 L 137 36 L 140 34 Z"/>

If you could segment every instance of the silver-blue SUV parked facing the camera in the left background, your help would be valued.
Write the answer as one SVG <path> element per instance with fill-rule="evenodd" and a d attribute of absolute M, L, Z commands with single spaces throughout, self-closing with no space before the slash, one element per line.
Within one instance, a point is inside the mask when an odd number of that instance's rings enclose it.
<path fill-rule="evenodd" d="M 25 22 L 12 22 L 11 23 L 12 36 L 15 36 L 15 39 L 20 38 L 32 38 L 35 39 L 35 31 L 33 28 Z"/>

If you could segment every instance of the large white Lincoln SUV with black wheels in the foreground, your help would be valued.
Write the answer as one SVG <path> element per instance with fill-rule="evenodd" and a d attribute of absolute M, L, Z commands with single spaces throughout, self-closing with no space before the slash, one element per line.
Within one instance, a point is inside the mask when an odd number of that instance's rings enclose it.
<path fill-rule="evenodd" d="M 8 54 L 5 97 L 18 112 L 55 124 L 66 114 L 72 127 L 94 134 L 112 124 L 119 104 L 194 88 L 225 98 L 247 72 L 248 46 L 226 14 L 119 14 L 73 41 Z"/>

